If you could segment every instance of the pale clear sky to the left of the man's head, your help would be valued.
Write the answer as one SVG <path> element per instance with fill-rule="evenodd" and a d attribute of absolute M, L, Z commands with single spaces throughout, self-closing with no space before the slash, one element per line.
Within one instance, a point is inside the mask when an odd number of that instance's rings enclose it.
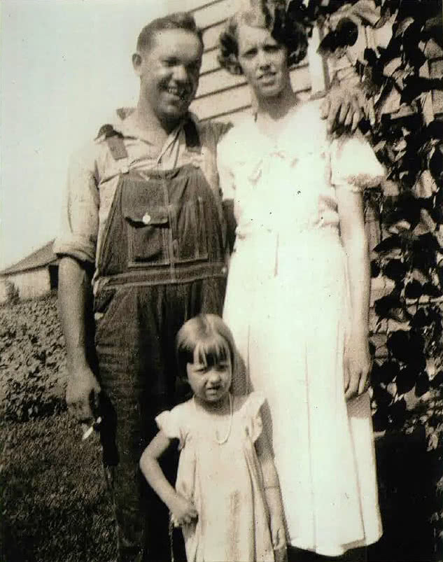
<path fill-rule="evenodd" d="M 139 31 L 190 1 L 1 1 L 0 269 L 55 237 L 70 153 L 136 103 Z"/>

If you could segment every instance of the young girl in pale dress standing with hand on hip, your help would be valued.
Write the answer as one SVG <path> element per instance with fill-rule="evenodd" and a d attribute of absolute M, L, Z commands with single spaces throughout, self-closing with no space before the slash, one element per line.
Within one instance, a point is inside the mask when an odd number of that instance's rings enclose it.
<path fill-rule="evenodd" d="M 178 370 L 194 395 L 157 416 L 160 431 L 140 460 L 182 527 L 188 562 L 274 561 L 286 552 L 279 481 L 262 433 L 264 399 L 231 395 L 234 349 L 219 316 L 204 314 L 183 325 Z M 181 451 L 176 489 L 158 463 L 173 440 Z"/>

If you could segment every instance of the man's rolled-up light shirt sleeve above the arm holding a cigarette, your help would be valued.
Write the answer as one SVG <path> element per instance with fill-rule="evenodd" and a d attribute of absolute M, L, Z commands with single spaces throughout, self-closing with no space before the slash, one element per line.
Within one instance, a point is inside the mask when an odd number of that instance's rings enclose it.
<path fill-rule="evenodd" d="M 66 190 L 62 202 L 57 255 L 71 255 L 94 263 L 99 229 L 99 190 L 94 146 L 75 153 L 69 161 Z"/>

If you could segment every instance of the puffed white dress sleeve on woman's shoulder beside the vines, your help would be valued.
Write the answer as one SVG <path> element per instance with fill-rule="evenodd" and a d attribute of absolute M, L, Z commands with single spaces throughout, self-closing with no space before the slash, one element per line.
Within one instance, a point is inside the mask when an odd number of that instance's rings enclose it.
<path fill-rule="evenodd" d="M 377 187 L 386 172 L 365 137 L 357 132 L 341 136 L 330 145 L 331 183 L 353 192 Z"/>

